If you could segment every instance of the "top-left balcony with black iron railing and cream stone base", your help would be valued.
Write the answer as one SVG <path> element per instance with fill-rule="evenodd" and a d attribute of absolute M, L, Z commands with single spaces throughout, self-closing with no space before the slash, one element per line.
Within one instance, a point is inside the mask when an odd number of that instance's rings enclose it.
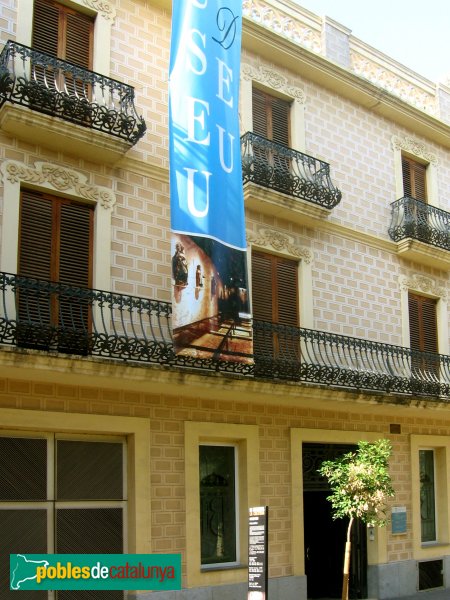
<path fill-rule="evenodd" d="M 0 54 L 0 127 L 27 142 L 109 163 L 146 130 L 131 86 L 11 41 Z"/>

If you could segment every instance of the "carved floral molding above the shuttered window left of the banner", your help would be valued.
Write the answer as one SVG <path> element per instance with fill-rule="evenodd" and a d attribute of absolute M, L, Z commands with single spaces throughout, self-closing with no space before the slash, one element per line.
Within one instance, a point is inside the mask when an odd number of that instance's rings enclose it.
<path fill-rule="evenodd" d="M 11 183 L 24 182 L 45 186 L 91 200 L 106 209 L 111 209 L 116 203 L 114 193 L 108 188 L 91 185 L 82 173 L 52 163 L 36 162 L 35 168 L 32 168 L 15 160 L 7 160 L 2 163 L 0 170 L 3 177 Z"/>

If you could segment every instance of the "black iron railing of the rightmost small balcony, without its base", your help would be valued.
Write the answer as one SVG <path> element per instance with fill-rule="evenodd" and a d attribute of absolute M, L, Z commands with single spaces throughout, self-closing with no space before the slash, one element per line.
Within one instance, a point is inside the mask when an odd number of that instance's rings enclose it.
<path fill-rule="evenodd" d="M 391 207 L 389 235 L 395 242 L 412 238 L 450 250 L 450 213 L 407 196 Z"/>

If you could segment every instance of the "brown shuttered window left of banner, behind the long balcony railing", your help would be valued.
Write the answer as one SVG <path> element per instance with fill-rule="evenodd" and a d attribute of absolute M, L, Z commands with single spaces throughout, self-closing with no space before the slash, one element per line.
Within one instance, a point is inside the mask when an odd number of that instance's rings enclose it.
<path fill-rule="evenodd" d="M 20 204 L 18 274 L 79 288 L 92 287 L 94 209 L 37 192 L 23 191 Z M 18 294 L 19 343 L 46 347 L 59 327 L 60 351 L 87 351 L 89 302 L 71 294 L 25 287 Z M 21 329 L 22 328 L 22 329 Z M 66 337 L 65 341 L 62 339 Z"/>

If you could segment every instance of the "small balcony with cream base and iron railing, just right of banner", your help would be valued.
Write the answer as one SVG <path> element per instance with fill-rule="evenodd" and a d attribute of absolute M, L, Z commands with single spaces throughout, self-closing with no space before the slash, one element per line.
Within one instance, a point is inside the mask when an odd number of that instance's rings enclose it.
<path fill-rule="evenodd" d="M 326 218 L 341 201 L 330 165 L 318 158 L 251 132 L 241 137 L 241 155 L 244 196 L 250 208 L 311 224 Z"/>

